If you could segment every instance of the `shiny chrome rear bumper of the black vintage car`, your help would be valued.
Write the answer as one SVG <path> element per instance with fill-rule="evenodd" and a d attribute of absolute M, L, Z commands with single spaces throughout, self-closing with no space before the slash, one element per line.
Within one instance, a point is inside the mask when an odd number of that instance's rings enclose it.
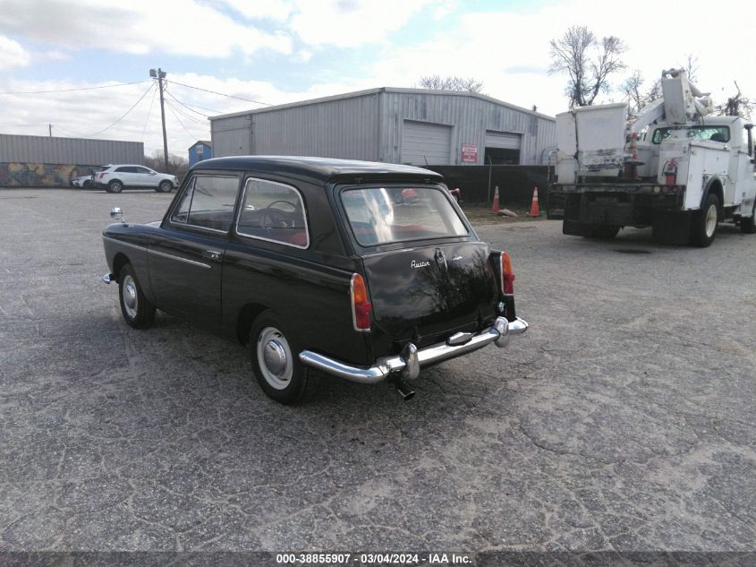
<path fill-rule="evenodd" d="M 380 358 L 375 365 L 368 367 L 348 365 L 310 350 L 302 350 L 299 358 L 305 365 L 318 368 L 323 372 L 351 382 L 375 384 L 383 382 L 390 374 L 398 374 L 402 378 L 412 380 L 417 378 L 420 373 L 420 366 L 437 363 L 447 358 L 459 357 L 483 348 L 489 343 L 494 343 L 497 347 L 505 347 L 509 339 L 515 335 L 522 335 L 523 332 L 528 330 L 528 326 L 528 322 L 519 317 L 512 322 L 506 321 L 504 317 L 498 317 L 490 329 L 481 331 L 477 335 L 471 335 L 470 339 L 460 336 L 461 333 L 457 333 L 446 342 L 426 348 L 417 348 L 409 343 L 403 348 L 402 354 L 395 357 Z M 462 340 L 465 340 L 465 342 L 457 344 Z"/>

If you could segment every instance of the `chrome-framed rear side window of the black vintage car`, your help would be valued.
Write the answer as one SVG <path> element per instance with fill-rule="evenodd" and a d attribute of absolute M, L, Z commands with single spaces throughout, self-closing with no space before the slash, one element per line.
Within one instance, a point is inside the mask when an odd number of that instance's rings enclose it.
<path fill-rule="evenodd" d="M 302 195 L 291 185 L 247 179 L 236 232 L 260 240 L 307 248 L 310 236 Z"/>

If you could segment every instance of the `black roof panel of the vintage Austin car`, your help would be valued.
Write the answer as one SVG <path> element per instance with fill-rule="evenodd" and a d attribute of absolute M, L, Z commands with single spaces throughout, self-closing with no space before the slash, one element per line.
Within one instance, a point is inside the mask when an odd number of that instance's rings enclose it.
<path fill-rule="evenodd" d="M 191 170 L 236 170 L 280 173 L 284 175 L 309 176 L 321 180 L 336 176 L 404 176 L 432 178 L 440 181 L 443 177 L 429 169 L 404 166 L 378 161 L 356 159 L 314 158 L 304 156 L 235 156 L 231 158 L 204 159 Z"/>

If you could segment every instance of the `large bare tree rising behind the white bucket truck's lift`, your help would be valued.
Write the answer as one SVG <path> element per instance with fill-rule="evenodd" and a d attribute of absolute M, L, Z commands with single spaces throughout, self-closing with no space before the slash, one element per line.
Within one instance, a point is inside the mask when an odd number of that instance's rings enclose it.
<path fill-rule="evenodd" d="M 620 59 L 627 47 L 615 36 L 600 41 L 585 26 L 572 26 L 560 39 L 551 42 L 549 73 L 567 73 L 565 89 L 570 107 L 593 104 L 599 92 L 608 92 L 609 76 L 624 69 Z"/>

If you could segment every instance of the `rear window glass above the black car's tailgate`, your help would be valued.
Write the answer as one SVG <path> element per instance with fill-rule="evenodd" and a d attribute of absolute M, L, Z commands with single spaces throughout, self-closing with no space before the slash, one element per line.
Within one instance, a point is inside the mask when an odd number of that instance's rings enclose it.
<path fill-rule="evenodd" d="M 441 187 L 356 187 L 341 202 L 362 246 L 469 234 Z"/>

